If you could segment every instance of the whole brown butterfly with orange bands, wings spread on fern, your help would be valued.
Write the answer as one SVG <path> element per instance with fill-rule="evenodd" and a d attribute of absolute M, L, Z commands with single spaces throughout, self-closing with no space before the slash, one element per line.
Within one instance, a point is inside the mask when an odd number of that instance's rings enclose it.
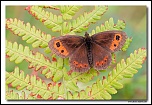
<path fill-rule="evenodd" d="M 111 53 L 122 48 L 127 35 L 123 31 L 104 31 L 84 37 L 66 35 L 53 38 L 48 46 L 59 57 L 69 58 L 70 69 L 87 72 L 90 68 L 106 69 L 112 60 Z"/>

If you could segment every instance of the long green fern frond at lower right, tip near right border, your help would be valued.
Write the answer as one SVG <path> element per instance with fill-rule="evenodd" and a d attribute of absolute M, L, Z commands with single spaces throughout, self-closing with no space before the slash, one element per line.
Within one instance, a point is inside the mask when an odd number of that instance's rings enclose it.
<path fill-rule="evenodd" d="M 110 94 L 116 94 L 116 89 L 121 89 L 123 84 L 119 82 L 123 78 L 131 78 L 137 69 L 142 67 L 143 60 L 146 57 L 145 49 L 135 50 L 130 54 L 126 62 L 122 60 L 117 64 L 116 68 L 112 70 L 108 78 L 103 77 L 103 80 L 98 79 L 91 87 L 87 87 L 85 91 L 71 93 L 68 92 L 68 98 L 70 99 L 111 99 Z"/>

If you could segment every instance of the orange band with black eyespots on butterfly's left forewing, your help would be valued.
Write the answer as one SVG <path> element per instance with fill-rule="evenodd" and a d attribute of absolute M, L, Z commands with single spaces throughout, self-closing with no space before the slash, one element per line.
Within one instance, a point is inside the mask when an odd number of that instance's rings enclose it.
<path fill-rule="evenodd" d="M 60 54 L 67 56 L 69 52 L 66 50 L 66 48 L 62 45 L 60 40 L 54 41 L 54 48 L 60 52 Z"/>

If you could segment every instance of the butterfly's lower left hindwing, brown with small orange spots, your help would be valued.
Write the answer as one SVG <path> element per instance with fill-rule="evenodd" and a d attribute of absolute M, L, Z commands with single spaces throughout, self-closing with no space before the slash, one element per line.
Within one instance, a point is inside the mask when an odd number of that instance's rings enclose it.
<path fill-rule="evenodd" d="M 90 65 L 87 57 L 87 49 L 85 43 L 82 44 L 71 56 L 70 56 L 71 70 L 76 72 L 86 72 L 90 69 Z"/>

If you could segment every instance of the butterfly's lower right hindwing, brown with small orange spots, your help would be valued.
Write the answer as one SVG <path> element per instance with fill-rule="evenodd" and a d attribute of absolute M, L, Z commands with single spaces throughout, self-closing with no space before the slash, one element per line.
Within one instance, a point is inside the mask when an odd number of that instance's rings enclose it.
<path fill-rule="evenodd" d="M 111 53 L 96 43 L 92 43 L 93 67 L 96 70 L 106 69 L 111 63 Z"/>

